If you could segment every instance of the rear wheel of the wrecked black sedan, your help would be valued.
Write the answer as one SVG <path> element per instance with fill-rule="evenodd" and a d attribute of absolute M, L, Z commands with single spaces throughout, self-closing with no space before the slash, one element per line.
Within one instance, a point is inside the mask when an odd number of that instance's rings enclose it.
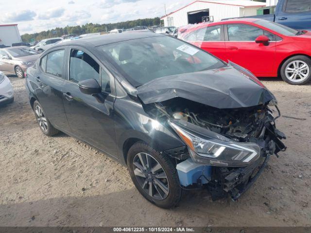
<path fill-rule="evenodd" d="M 49 119 L 46 117 L 45 112 L 44 112 L 41 104 L 37 100 L 35 100 L 35 102 L 34 102 L 34 113 L 35 113 L 35 119 L 37 120 L 38 125 L 39 125 L 42 133 L 44 133 L 47 136 L 53 136 L 53 135 L 59 133 L 59 131 L 56 130 L 52 126 Z"/>

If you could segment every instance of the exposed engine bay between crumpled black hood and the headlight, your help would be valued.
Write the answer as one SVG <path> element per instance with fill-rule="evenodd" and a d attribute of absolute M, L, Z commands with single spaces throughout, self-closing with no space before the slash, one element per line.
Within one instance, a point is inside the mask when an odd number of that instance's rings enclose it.
<path fill-rule="evenodd" d="M 273 120 L 272 111 L 264 105 L 245 109 L 217 109 L 176 98 L 157 106 L 174 119 L 188 121 L 239 142 L 258 138 L 264 123 Z"/>

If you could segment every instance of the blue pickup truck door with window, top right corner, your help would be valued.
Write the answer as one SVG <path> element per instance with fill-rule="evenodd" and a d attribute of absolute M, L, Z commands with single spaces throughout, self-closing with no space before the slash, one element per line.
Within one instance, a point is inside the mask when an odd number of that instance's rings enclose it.
<path fill-rule="evenodd" d="M 286 0 L 275 22 L 298 30 L 311 30 L 310 13 L 310 0 Z"/>

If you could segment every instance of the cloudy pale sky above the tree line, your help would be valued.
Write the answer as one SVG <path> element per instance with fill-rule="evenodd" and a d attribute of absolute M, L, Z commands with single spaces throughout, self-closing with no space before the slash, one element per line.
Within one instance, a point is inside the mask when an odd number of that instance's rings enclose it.
<path fill-rule="evenodd" d="M 191 0 L 0 0 L 0 24 L 18 24 L 20 34 L 86 23 L 116 23 L 161 17 Z M 148 25 L 146 25 L 148 26 Z"/>

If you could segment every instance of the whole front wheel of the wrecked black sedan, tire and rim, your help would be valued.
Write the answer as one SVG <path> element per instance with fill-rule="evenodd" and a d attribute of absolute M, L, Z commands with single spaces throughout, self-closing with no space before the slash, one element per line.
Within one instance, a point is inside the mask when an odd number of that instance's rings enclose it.
<path fill-rule="evenodd" d="M 139 155 L 145 161 L 146 170 L 144 173 L 136 166 L 139 164 L 143 168 Z M 147 156 L 149 163 L 146 163 Z M 144 142 L 137 142 L 128 151 L 127 165 L 133 183 L 145 199 L 161 208 L 173 208 L 176 206 L 181 199 L 182 189 L 177 170 L 169 157 L 161 154 Z M 152 183 L 152 195 L 149 194 L 150 183 Z"/>

